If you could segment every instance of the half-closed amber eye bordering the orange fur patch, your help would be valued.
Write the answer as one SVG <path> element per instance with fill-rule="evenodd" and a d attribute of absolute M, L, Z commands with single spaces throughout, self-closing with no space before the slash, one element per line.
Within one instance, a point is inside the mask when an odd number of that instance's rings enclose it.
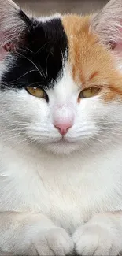
<path fill-rule="evenodd" d="M 98 87 L 91 87 L 91 88 L 84 89 L 83 91 L 81 91 L 79 93 L 79 98 L 93 97 L 95 95 L 98 95 L 99 91 L 100 91 L 100 88 L 98 88 Z"/>

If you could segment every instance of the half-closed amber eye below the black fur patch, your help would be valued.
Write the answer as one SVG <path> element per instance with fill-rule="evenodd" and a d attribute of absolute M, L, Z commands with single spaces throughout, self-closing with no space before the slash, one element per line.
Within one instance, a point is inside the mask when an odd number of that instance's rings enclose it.
<path fill-rule="evenodd" d="M 26 90 L 30 95 L 33 95 L 38 98 L 45 98 L 48 102 L 48 95 L 46 94 L 46 91 L 43 91 L 42 89 L 37 87 L 26 87 Z"/>

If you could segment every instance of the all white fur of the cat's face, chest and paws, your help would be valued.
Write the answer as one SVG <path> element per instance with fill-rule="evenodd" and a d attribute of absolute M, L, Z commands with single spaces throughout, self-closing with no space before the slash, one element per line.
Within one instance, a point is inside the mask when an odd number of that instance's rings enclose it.
<path fill-rule="evenodd" d="M 65 61 L 49 103 L 0 93 L 0 255 L 122 250 L 122 103 L 81 89 Z M 62 140 L 54 120 L 72 117 Z"/>

